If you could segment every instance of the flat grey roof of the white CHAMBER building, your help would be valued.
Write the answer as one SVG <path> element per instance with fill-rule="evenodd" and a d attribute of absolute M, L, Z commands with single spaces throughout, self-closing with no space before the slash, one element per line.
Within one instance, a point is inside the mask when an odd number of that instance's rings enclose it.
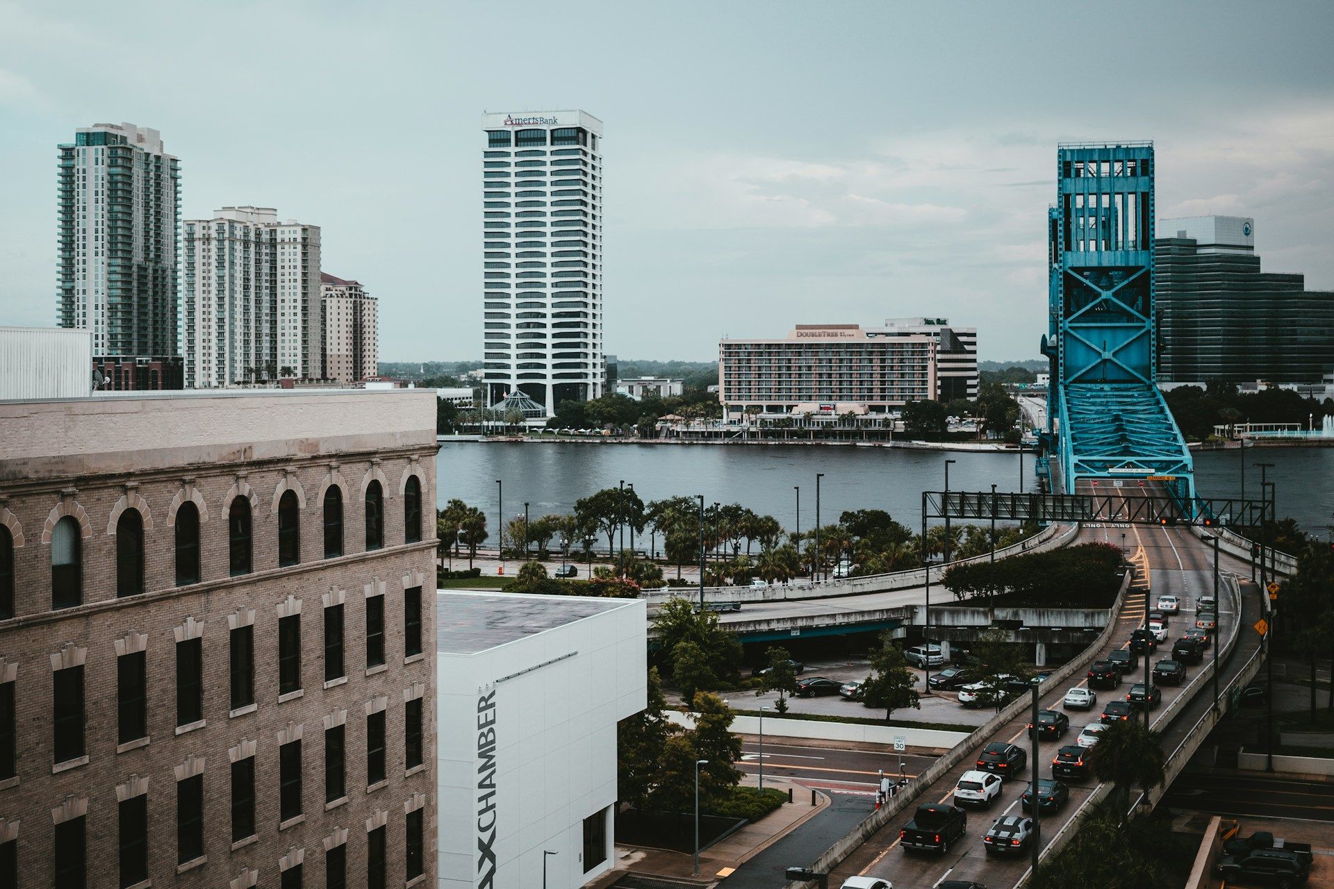
<path fill-rule="evenodd" d="M 558 626 L 627 608 L 635 598 L 436 590 L 435 650 L 476 654 Z"/>

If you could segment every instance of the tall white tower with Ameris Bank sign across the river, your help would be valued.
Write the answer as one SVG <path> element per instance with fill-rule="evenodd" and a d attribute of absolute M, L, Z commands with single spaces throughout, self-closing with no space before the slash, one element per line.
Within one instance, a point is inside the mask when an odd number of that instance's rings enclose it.
<path fill-rule="evenodd" d="M 486 113 L 486 404 L 522 391 L 547 416 L 603 395 L 602 121 Z"/>

